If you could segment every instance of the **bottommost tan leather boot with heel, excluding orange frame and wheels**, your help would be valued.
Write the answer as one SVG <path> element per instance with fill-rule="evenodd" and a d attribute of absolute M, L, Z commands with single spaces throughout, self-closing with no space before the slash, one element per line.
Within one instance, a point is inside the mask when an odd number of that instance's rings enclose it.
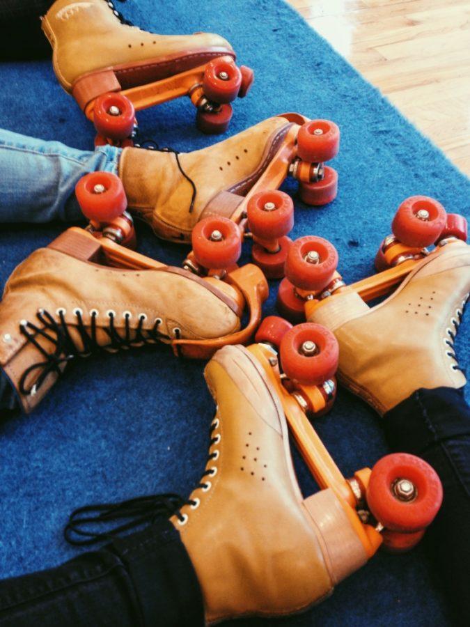
<path fill-rule="evenodd" d="M 331 489 L 304 501 L 282 406 L 256 357 L 226 346 L 205 377 L 217 403 L 207 469 L 171 520 L 206 621 L 304 610 L 364 564 L 366 552 Z"/>

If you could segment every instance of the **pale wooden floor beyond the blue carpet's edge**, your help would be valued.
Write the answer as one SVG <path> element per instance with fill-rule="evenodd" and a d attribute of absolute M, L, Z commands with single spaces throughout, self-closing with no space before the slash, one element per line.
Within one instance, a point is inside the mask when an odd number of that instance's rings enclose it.
<path fill-rule="evenodd" d="M 470 0 L 289 0 L 470 175 Z"/>

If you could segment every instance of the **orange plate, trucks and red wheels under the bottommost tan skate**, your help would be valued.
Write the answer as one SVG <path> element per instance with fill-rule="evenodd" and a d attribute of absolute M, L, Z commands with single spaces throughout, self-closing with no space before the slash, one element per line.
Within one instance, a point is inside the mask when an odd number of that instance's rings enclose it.
<path fill-rule="evenodd" d="M 261 323 L 256 342 L 248 350 L 281 399 L 302 458 L 320 490 L 331 488 L 338 497 L 368 558 L 382 543 L 393 552 L 411 549 L 441 505 L 436 472 L 421 458 L 399 453 L 345 479 L 311 424 L 311 419 L 331 409 L 336 396 L 334 334 L 315 323 L 292 327 L 283 318 L 269 316 Z M 308 510 L 308 499 L 305 504 Z"/>

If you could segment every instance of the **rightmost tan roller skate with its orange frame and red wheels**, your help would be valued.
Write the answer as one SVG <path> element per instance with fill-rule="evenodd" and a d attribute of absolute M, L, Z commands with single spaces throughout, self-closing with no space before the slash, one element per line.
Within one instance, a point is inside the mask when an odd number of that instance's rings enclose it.
<path fill-rule="evenodd" d="M 290 249 L 278 307 L 334 332 L 338 379 L 380 415 L 416 389 L 458 389 L 466 382 L 453 349 L 470 292 L 466 235 L 464 218 L 446 215 L 437 201 L 407 199 L 377 254 L 376 265 L 386 269 L 349 286 L 336 270 L 333 245 L 300 238 Z M 393 289 L 375 307 L 366 304 Z"/>

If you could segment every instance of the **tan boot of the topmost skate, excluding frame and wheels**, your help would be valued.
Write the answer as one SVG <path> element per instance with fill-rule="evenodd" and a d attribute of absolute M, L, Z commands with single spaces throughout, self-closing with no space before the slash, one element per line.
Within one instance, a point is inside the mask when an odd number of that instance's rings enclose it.
<path fill-rule="evenodd" d="M 219 56 L 235 56 L 230 44 L 212 33 L 142 31 L 107 0 L 57 0 L 43 17 L 42 30 L 54 50 L 54 71 L 65 91 L 77 91 L 81 80 L 96 75 L 98 92 L 88 93 L 91 98 L 169 77 Z M 115 82 L 106 83 L 105 70 L 113 70 Z"/>

